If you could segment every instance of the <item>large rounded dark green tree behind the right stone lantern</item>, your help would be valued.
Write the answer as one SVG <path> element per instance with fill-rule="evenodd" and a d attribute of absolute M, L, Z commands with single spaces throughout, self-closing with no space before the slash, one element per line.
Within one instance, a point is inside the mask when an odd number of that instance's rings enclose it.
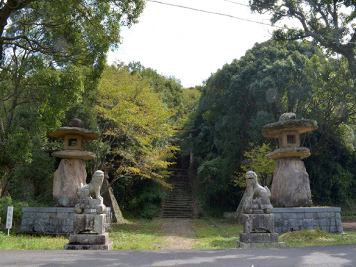
<path fill-rule="evenodd" d="M 351 142 L 354 139 L 350 138 L 356 111 L 352 84 L 346 60 L 327 58 L 311 43 L 255 44 L 245 56 L 212 74 L 202 87 L 190 128 L 195 129 L 193 153 L 198 186 L 200 181 L 206 180 L 210 188 L 220 188 L 219 192 L 211 190 L 216 195 L 210 197 L 223 195 L 228 199 L 219 202 L 220 209 L 227 209 L 233 198 L 238 202 L 243 192 L 234 186 L 232 177 L 244 160 L 243 152 L 250 151 L 250 143 L 257 146 L 270 143 L 276 147 L 275 140 L 266 140 L 261 135 L 261 128 L 276 122 L 285 112 L 294 112 L 297 118 L 318 123 L 318 130 L 301 139 L 301 145 L 312 148 L 306 165 L 308 161 L 316 162 L 314 156 L 328 153 L 332 150 L 330 147 L 335 146 L 339 147 L 338 154 L 348 155 L 345 162 L 353 162 L 350 153 L 344 151 L 352 152 L 355 146 Z M 334 156 L 334 161 L 336 159 Z M 346 168 L 346 163 L 341 164 L 341 168 L 345 171 L 340 169 L 340 176 L 330 177 L 329 181 L 350 180 L 349 173 L 354 170 Z M 318 179 L 325 180 L 313 172 L 313 180 Z M 204 183 L 201 186 L 204 188 Z M 312 190 L 317 191 L 317 186 Z M 207 203 L 207 207 L 213 207 L 213 203 Z M 232 208 L 236 209 L 230 206 L 230 210 Z"/>

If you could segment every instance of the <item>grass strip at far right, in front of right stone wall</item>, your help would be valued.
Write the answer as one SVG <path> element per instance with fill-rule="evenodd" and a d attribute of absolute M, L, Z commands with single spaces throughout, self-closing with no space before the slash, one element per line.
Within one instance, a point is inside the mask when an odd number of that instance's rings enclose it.
<path fill-rule="evenodd" d="M 280 235 L 280 241 L 286 242 L 289 247 L 356 244 L 356 232 L 331 234 L 320 229 L 296 231 Z"/>

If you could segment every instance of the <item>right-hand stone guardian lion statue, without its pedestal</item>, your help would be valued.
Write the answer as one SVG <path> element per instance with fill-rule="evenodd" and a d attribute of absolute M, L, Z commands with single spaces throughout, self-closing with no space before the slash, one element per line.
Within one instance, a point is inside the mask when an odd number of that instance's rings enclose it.
<path fill-rule="evenodd" d="M 271 213 L 273 207 L 270 204 L 270 190 L 267 186 L 262 187 L 259 185 L 255 172 L 246 172 L 245 177 L 248 197 L 243 205 L 243 213 L 251 214 L 255 209 L 262 209 L 264 213 Z"/>

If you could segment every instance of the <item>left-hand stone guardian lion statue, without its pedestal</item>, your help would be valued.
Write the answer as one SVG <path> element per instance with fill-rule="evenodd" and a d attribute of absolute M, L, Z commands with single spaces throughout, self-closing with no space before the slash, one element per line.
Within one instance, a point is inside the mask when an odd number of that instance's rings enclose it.
<path fill-rule="evenodd" d="M 100 195 L 100 190 L 104 181 L 104 172 L 97 170 L 92 175 L 92 181 L 85 186 L 81 183 L 76 189 L 76 205 L 74 211 L 76 213 L 103 213 L 105 205 L 103 204 L 103 197 Z M 94 196 L 94 197 L 93 197 Z"/>

